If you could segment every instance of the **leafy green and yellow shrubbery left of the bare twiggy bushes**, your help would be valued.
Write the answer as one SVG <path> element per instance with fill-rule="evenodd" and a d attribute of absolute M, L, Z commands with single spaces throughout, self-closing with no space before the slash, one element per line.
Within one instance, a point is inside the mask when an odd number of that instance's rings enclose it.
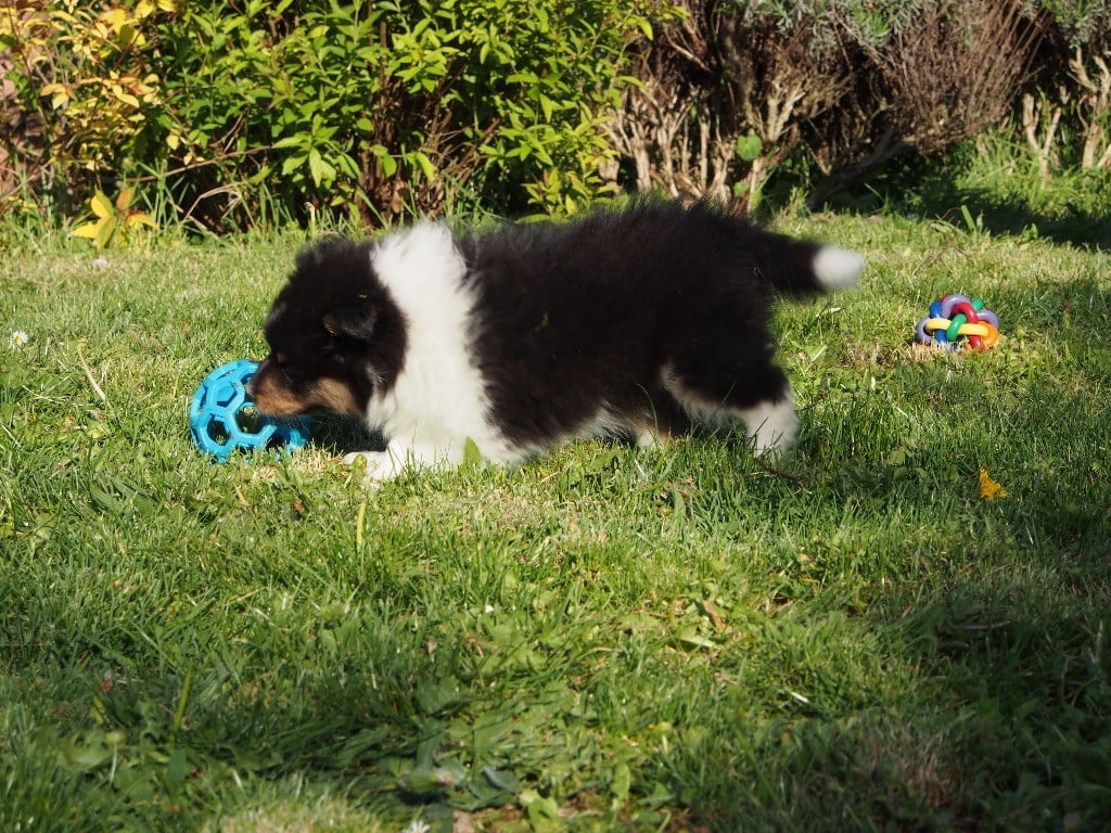
<path fill-rule="evenodd" d="M 573 210 L 607 187 L 600 113 L 650 32 L 648 7 L 619 0 L 68 1 L 7 12 L 21 123 L 4 147 L 84 193 L 158 179 L 211 230 L 268 204 L 299 219 L 434 213 L 460 194 Z"/>

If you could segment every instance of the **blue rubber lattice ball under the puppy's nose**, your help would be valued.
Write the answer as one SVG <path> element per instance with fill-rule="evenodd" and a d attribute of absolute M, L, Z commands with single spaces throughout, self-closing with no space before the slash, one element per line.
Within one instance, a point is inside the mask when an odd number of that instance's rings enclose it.
<path fill-rule="evenodd" d="M 309 420 L 274 420 L 254 408 L 247 384 L 259 363 L 239 359 L 221 364 L 201 382 L 189 405 L 189 428 L 202 451 L 221 463 L 233 451 L 290 451 L 309 440 Z"/>

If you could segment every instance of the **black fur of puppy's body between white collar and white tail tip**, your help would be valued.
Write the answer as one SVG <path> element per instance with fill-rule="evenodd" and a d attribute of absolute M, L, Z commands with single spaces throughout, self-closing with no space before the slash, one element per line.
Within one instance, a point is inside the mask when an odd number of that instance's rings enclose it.
<path fill-rule="evenodd" d="M 532 444 L 573 434 L 600 408 L 627 425 L 682 430 L 689 408 L 665 378 L 709 408 L 782 399 L 771 291 L 820 292 L 819 248 L 675 202 L 466 239 L 492 416 Z"/>

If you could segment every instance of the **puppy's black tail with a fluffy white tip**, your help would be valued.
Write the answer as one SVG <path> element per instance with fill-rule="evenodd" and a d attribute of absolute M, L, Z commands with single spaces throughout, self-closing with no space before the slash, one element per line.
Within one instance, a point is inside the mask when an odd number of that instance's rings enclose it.
<path fill-rule="evenodd" d="M 853 287 L 865 263 L 857 252 L 761 231 L 757 267 L 764 282 L 787 295 L 813 295 Z"/>

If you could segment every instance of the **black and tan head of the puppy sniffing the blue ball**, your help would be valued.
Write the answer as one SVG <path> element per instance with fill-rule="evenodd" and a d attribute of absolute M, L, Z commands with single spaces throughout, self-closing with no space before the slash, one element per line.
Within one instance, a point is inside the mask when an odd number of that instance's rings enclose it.
<path fill-rule="evenodd" d="M 261 413 L 362 415 L 404 355 L 401 313 L 371 267 L 371 249 L 330 240 L 304 252 L 266 323 L 270 354 L 250 383 Z"/>

